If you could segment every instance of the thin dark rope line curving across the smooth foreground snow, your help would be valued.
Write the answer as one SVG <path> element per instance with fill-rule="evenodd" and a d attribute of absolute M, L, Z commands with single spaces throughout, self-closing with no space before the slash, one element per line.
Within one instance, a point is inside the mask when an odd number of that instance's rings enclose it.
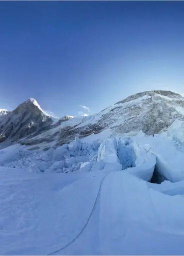
<path fill-rule="evenodd" d="M 106 177 L 109 173 L 111 173 L 112 171 L 113 171 L 113 170 L 107 172 L 107 173 L 104 175 L 104 177 L 102 178 L 102 180 L 101 180 L 101 182 L 100 182 L 99 189 L 98 189 L 98 193 L 97 193 L 97 196 L 96 196 L 94 205 L 93 205 L 93 208 L 92 208 L 92 210 L 91 210 L 91 213 L 89 214 L 89 217 L 88 217 L 88 219 L 87 219 L 85 225 L 84 225 L 83 228 L 81 229 L 81 231 L 80 231 L 70 242 L 68 242 L 66 245 L 64 245 L 63 247 L 61 247 L 61 248 L 59 248 L 59 249 L 57 249 L 57 250 L 54 250 L 54 251 L 52 251 L 52 252 L 46 254 L 47 256 L 53 255 L 53 254 L 59 252 L 60 250 L 65 249 L 65 248 L 68 247 L 70 244 L 72 244 L 72 243 L 82 234 L 82 232 L 83 232 L 84 229 L 86 228 L 86 226 L 87 226 L 87 224 L 88 224 L 88 222 L 89 222 L 89 220 L 90 220 L 90 218 L 91 218 L 91 216 L 92 216 L 92 213 L 93 213 L 93 211 L 94 211 L 94 209 L 95 209 L 95 206 L 96 206 L 96 203 L 97 203 L 97 199 L 98 199 L 99 194 L 100 194 L 100 191 L 101 191 L 102 183 L 103 183 L 105 177 Z"/>

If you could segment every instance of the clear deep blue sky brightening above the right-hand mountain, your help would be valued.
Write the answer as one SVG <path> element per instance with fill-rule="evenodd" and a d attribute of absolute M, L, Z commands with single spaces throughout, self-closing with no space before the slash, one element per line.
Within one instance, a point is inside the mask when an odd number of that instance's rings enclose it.
<path fill-rule="evenodd" d="M 152 89 L 184 93 L 184 1 L 0 1 L 0 108 L 89 114 Z"/>

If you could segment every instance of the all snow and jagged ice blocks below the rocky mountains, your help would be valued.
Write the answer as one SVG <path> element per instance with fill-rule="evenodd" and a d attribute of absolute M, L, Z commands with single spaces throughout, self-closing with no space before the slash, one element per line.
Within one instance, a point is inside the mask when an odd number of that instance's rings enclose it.
<path fill-rule="evenodd" d="M 184 254 L 182 125 L 1 149 L 0 255 Z"/>

